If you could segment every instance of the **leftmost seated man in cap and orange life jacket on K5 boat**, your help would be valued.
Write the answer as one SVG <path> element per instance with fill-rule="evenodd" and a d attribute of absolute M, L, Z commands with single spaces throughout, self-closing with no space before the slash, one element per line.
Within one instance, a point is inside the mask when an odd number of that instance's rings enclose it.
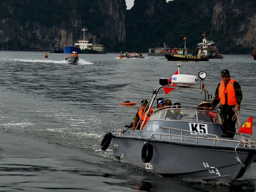
<path fill-rule="evenodd" d="M 142 125 L 142 123 L 143 123 L 143 121 L 145 119 L 147 110 L 148 110 L 148 107 L 146 108 L 147 104 L 148 104 L 148 101 L 146 99 L 141 101 L 141 108 L 138 110 L 137 114 L 133 118 L 133 127 L 131 128 L 131 130 L 135 130 L 136 129 L 137 123 L 138 123 L 139 119 L 141 119 L 139 124 L 140 124 L 140 126 Z M 146 125 L 146 123 L 148 122 L 148 120 L 150 119 L 150 115 L 153 113 L 153 111 L 154 110 L 152 108 L 150 108 L 148 116 L 147 116 L 147 118 L 146 118 L 146 120 L 145 120 L 145 122 L 144 122 L 144 124 L 142 126 L 142 130 L 143 130 L 144 126 Z M 143 115 L 143 112 L 144 112 L 144 115 Z M 139 127 L 138 127 L 138 129 L 139 129 Z"/>

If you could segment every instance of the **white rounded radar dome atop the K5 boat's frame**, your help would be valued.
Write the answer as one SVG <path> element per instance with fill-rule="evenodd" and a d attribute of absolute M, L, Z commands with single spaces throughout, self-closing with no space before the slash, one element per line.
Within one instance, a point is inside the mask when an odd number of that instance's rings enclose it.
<path fill-rule="evenodd" d="M 172 83 L 177 86 L 191 87 L 197 84 L 197 77 L 188 74 L 174 74 L 172 76 Z"/>

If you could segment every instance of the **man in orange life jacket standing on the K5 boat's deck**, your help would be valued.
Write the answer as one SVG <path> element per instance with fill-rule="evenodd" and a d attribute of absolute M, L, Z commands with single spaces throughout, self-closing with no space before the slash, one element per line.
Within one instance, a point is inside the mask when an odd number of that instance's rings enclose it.
<path fill-rule="evenodd" d="M 242 90 L 241 86 L 236 80 L 230 78 L 229 70 L 222 70 L 221 72 L 222 81 L 217 85 L 215 91 L 215 97 L 212 102 L 212 107 L 210 110 L 213 110 L 214 107 L 220 102 L 220 115 L 221 123 L 224 128 L 224 135 L 222 137 L 233 138 L 234 133 L 236 133 L 236 119 L 233 119 L 233 116 L 236 112 L 233 108 L 240 110 L 240 104 L 242 102 Z"/>

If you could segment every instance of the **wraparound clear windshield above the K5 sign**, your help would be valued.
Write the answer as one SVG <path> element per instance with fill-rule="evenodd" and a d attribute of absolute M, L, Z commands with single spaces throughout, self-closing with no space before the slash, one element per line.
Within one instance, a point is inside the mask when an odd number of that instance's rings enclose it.
<path fill-rule="evenodd" d="M 178 120 L 221 124 L 221 118 L 218 111 L 208 111 L 207 109 L 197 110 L 196 107 L 163 107 L 159 110 L 155 110 L 154 114 L 150 116 L 150 120 Z"/>

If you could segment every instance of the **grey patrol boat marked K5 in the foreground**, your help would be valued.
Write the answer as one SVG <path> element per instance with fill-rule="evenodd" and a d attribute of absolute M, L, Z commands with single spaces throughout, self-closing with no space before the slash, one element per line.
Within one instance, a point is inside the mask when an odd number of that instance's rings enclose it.
<path fill-rule="evenodd" d="M 200 98 L 201 95 L 208 102 L 210 95 L 203 86 L 207 74 L 201 71 L 199 77 L 199 87 L 194 87 L 197 85 L 196 76 L 178 73 L 172 76 L 171 82 L 161 78 L 147 106 L 153 106 L 162 89 L 174 89 L 171 91 L 174 95 L 177 91 L 183 95 L 192 95 L 192 91 L 197 91 L 199 94 L 193 98 Z M 208 111 L 213 118 L 212 122 L 206 122 L 199 119 L 202 109 L 197 106 L 183 106 L 181 102 L 180 110 L 187 114 L 181 119 L 170 116 L 175 106 L 168 107 L 154 111 L 143 129 L 139 125 L 139 130 L 132 131 L 125 126 L 106 133 L 101 149 L 106 150 L 112 141 L 113 155 L 121 162 L 188 181 L 207 180 L 232 185 L 243 176 L 256 158 L 255 141 L 251 140 L 251 136 L 241 133 L 236 134 L 234 139 L 221 137 L 224 130 L 218 110 Z M 147 117 L 148 112 L 143 115 Z M 142 125 L 144 123 L 145 120 Z"/>

